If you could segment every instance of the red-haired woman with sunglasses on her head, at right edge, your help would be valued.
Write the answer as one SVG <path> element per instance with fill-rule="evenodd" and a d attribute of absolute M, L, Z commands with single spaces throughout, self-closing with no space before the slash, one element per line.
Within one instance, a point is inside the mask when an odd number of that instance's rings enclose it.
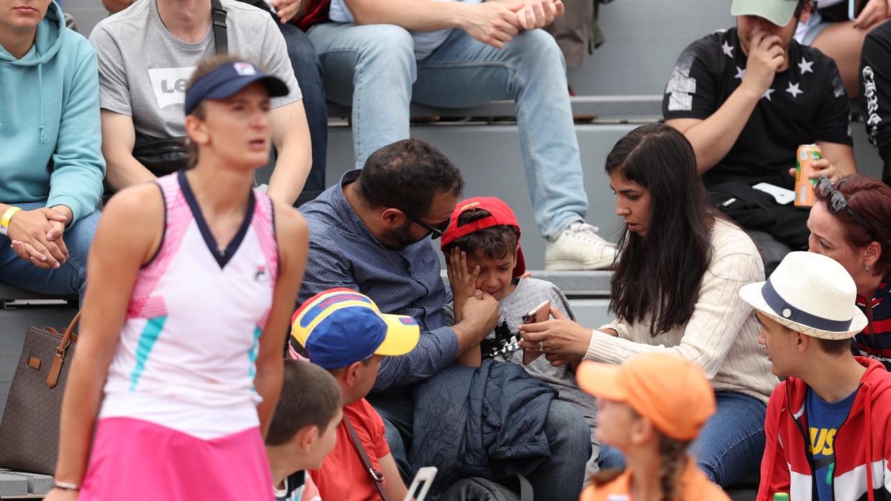
<path fill-rule="evenodd" d="M 835 185 L 821 178 L 807 227 L 808 250 L 845 267 L 857 285 L 857 307 L 869 323 L 856 349 L 891 368 L 891 186 L 862 174 Z"/>

